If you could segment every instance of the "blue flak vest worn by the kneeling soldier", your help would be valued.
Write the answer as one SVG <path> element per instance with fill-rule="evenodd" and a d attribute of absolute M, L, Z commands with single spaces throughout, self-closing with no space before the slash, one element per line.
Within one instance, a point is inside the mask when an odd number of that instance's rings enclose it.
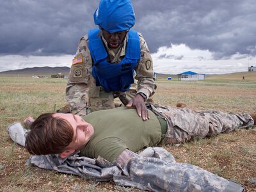
<path fill-rule="evenodd" d="M 92 76 L 96 86 L 102 86 L 106 92 L 126 92 L 134 83 L 134 67 L 140 60 L 140 38 L 137 31 L 129 30 L 125 56 L 120 63 L 109 63 L 108 53 L 98 36 L 99 28 L 88 31 L 90 54 L 93 60 Z"/>

